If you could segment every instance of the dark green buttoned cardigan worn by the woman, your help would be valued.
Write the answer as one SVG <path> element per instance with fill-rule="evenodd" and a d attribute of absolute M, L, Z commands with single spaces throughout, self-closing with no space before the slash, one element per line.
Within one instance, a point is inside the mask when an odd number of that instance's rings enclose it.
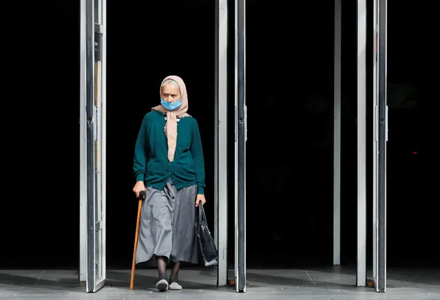
<path fill-rule="evenodd" d="M 165 116 L 150 111 L 143 119 L 134 148 L 136 181 L 144 181 L 146 187 L 162 190 L 171 178 L 177 189 L 197 185 L 197 193 L 205 194 L 205 162 L 196 119 L 178 119 L 176 152 L 170 163 L 164 131 Z"/>

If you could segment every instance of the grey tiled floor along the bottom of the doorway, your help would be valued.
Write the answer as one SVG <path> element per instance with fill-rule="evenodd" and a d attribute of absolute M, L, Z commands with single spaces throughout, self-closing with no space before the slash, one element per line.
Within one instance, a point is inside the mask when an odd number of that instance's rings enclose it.
<path fill-rule="evenodd" d="M 183 290 L 158 292 L 156 270 L 136 270 L 134 290 L 130 270 L 107 270 L 107 284 L 87 293 L 76 270 L 0 270 L 0 299 L 440 299 L 440 269 L 388 269 L 386 292 L 355 286 L 355 269 L 343 266 L 307 269 L 248 269 L 246 292 L 216 286 L 216 268 L 182 268 Z M 233 270 L 229 278 L 233 279 Z M 368 276 L 370 277 L 370 276 Z"/>

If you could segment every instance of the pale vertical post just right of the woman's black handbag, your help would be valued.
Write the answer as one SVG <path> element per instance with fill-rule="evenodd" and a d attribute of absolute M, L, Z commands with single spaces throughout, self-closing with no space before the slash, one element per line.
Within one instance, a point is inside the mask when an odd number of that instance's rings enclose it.
<path fill-rule="evenodd" d="M 216 131 L 214 139 L 214 240 L 217 285 L 227 285 L 227 0 L 216 0 Z"/>

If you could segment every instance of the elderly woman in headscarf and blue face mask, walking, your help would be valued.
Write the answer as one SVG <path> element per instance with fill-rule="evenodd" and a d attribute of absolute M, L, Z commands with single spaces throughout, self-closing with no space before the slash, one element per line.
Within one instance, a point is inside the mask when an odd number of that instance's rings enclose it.
<path fill-rule="evenodd" d="M 198 263 L 195 207 L 206 202 L 205 163 L 198 123 L 187 110 L 185 83 L 167 76 L 160 85 L 160 105 L 145 115 L 134 149 L 133 192 L 136 197 L 146 192 L 136 264 L 156 264 L 160 292 L 181 290 L 181 262 Z"/>

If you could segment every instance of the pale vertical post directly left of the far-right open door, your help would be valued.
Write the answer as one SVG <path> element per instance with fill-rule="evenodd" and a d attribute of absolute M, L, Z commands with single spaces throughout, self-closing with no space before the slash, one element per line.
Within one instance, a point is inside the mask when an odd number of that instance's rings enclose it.
<path fill-rule="evenodd" d="M 357 0 L 357 272 L 366 286 L 366 0 Z"/>

